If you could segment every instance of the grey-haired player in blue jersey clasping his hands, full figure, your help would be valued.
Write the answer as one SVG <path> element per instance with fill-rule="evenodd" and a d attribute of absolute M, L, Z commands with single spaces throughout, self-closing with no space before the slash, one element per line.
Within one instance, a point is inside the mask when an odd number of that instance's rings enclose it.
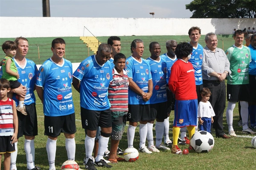
<path fill-rule="evenodd" d="M 150 120 L 150 103 L 153 82 L 150 65 L 142 58 L 144 52 L 143 41 L 140 39 L 131 42 L 132 55 L 126 59 L 126 72 L 129 79 L 127 130 L 128 147 L 133 147 L 135 129 L 140 122 L 140 152 L 152 153 L 145 146 Z"/>

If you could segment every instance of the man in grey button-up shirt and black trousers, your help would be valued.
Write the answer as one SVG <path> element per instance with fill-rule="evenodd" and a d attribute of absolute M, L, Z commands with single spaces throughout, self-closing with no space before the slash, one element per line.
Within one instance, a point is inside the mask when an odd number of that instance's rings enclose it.
<path fill-rule="evenodd" d="M 209 88 L 212 96 L 209 102 L 212 105 L 215 116 L 214 127 L 216 137 L 228 139 L 223 130 L 223 113 L 226 107 L 225 78 L 230 72 L 230 62 L 225 52 L 217 48 L 218 39 L 216 34 L 210 32 L 205 36 L 204 58 L 202 64 L 202 76 L 204 87 Z"/>

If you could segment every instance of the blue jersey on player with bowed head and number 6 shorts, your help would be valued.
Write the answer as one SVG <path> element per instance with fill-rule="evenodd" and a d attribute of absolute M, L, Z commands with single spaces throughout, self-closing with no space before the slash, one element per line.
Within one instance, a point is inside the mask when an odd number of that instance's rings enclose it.
<path fill-rule="evenodd" d="M 95 55 L 81 62 L 73 74 L 80 82 L 80 105 L 88 110 L 104 111 L 109 106 L 108 86 L 112 81 L 112 65 L 99 65 Z"/>

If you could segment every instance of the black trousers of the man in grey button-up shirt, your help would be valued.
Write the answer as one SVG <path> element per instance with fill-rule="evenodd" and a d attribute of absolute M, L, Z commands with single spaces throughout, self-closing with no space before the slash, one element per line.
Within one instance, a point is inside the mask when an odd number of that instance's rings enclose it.
<path fill-rule="evenodd" d="M 209 102 L 212 105 L 215 116 L 213 117 L 213 126 L 216 137 L 224 135 L 223 113 L 226 107 L 226 85 L 225 82 L 203 80 L 204 87 L 209 88 L 212 93 Z"/>

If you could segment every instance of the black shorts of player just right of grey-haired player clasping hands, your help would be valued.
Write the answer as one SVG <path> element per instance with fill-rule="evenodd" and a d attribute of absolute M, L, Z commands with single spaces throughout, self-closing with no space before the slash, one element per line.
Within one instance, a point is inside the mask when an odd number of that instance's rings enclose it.
<path fill-rule="evenodd" d="M 167 118 L 167 102 L 150 104 L 150 119 L 166 119 Z"/>

